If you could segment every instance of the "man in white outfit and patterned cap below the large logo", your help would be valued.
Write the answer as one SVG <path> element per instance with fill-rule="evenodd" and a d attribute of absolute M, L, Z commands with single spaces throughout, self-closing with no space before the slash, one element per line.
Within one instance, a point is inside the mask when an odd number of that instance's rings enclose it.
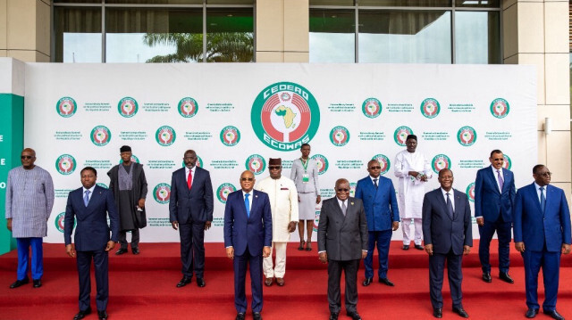
<path fill-rule="evenodd" d="M 264 258 L 263 269 L 266 277 L 265 285 L 271 286 L 274 277 L 276 284 L 284 285 L 286 273 L 286 245 L 290 233 L 296 230 L 298 223 L 298 192 L 296 185 L 289 178 L 282 176 L 282 159 L 268 160 L 270 176 L 259 181 L 255 189 L 268 193 L 272 210 L 272 247 L 270 256 Z M 272 252 L 276 250 L 276 264 L 273 266 Z"/>

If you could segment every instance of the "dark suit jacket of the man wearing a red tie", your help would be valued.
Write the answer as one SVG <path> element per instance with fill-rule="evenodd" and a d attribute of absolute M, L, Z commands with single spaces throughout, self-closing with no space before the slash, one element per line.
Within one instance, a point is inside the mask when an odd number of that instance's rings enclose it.
<path fill-rule="evenodd" d="M 213 221 L 213 185 L 204 168 L 196 168 L 189 191 L 185 168 L 172 173 L 169 220 L 180 224 Z"/>

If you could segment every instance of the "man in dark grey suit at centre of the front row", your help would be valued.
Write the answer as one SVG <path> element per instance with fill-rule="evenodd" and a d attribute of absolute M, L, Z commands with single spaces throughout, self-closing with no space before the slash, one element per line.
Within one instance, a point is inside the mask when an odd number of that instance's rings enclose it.
<path fill-rule="evenodd" d="M 328 303 L 330 320 L 341 310 L 341 270 L 346 278 L 346 312 L 353 320 L 357 313 L 357 269 L 367 255 L 367 222 L 363 202 L 349 197 L 349 182 L 338 179 L 336 196 L 322 203 L 318 224 L 318 254 L 328 263 Z"/>

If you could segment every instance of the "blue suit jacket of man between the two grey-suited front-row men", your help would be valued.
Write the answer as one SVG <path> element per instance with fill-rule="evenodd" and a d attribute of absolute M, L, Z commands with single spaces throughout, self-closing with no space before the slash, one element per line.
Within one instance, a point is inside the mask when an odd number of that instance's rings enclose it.
<path fill-rule="evenodd" d="M 367 230 L 391 230 L 392 222 L 400 221 L 400 209 L 390 179 L 379 176 L 377 189 L 370 176 L 357 181 L 356 198 L 364 202 Z"/>

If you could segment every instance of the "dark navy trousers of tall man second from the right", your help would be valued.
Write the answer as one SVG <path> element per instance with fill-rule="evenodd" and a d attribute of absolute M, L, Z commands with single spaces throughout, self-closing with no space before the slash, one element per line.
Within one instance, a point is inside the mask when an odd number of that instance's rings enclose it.
<path fill-rule="evenodd" d="M 495 222 L 484 221 L 484 226 L 479 226 L 479 259 L 483 272 L 491 273 L 491 263 L 489 262 L 489 248 L 491 246 L 492 235 L 496 231 L 499 235 L 499 271 L 509 272 L 510 253 L 510 222 L 504 222 L 502 217 Z"/>

